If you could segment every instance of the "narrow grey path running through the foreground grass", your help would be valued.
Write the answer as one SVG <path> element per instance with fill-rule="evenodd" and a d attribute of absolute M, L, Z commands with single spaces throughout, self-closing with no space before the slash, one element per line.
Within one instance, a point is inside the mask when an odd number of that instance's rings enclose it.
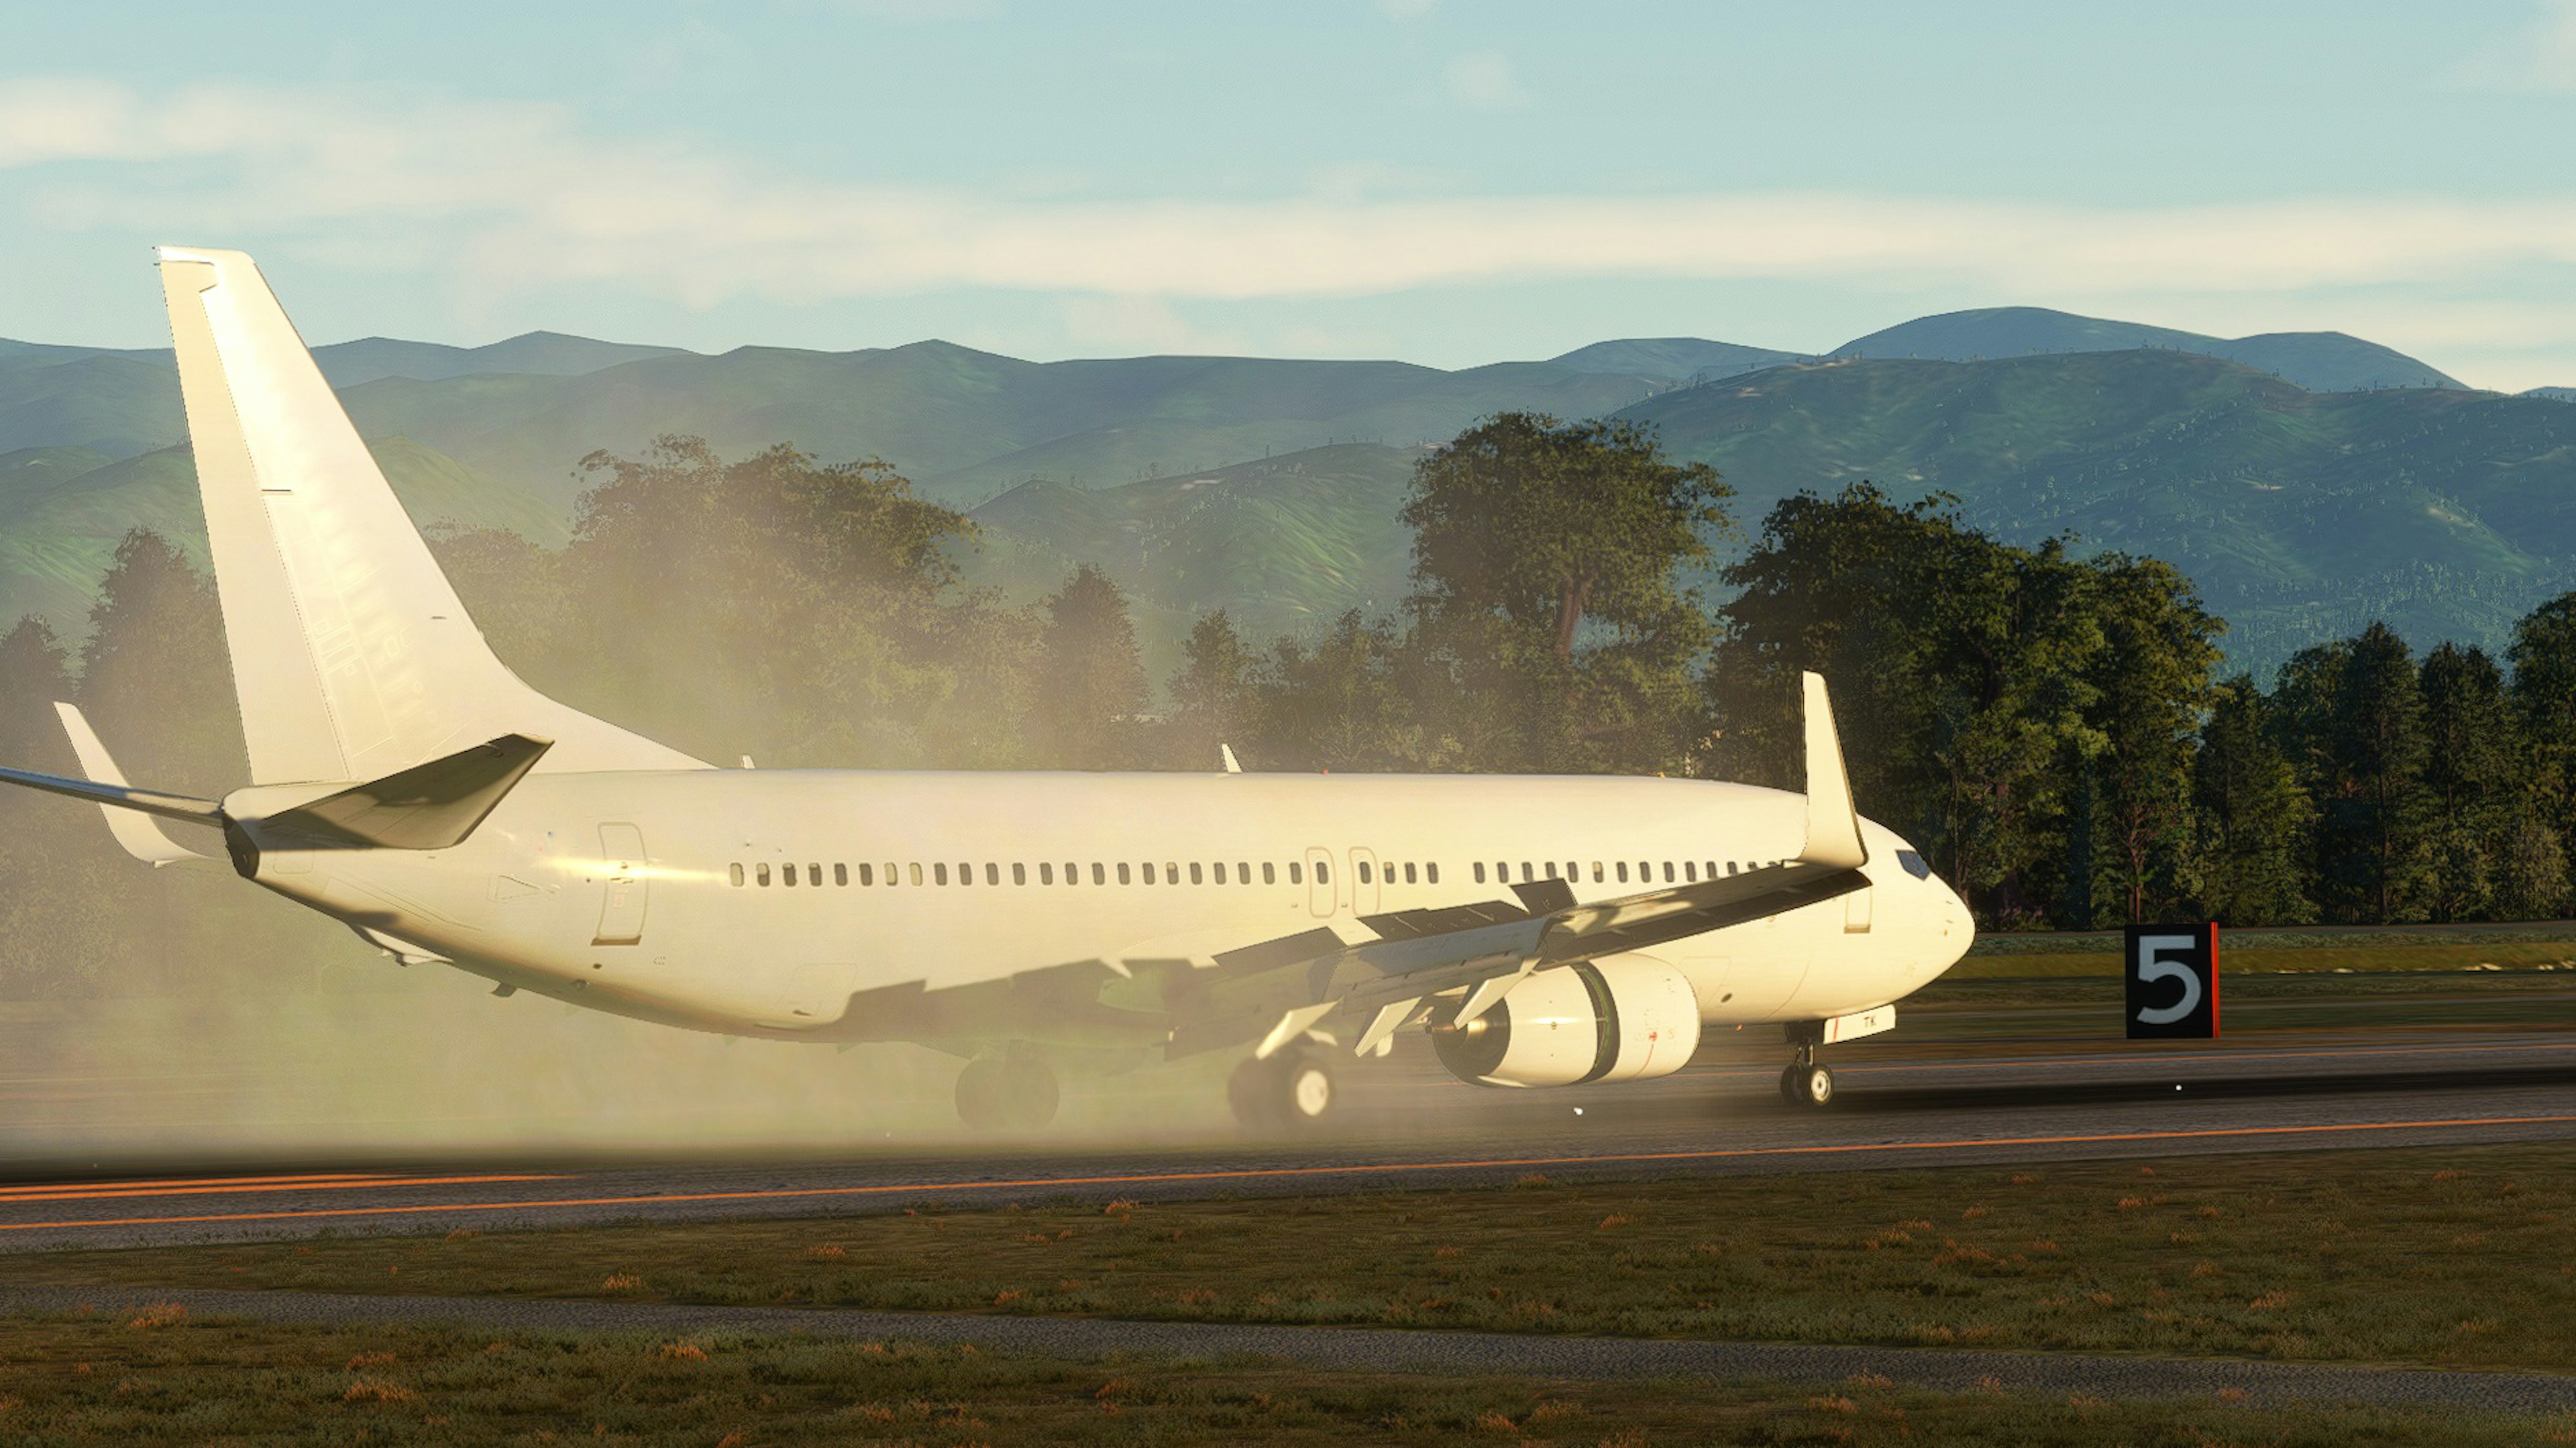
<path fill-rule="evenodd" d="M 1530 1378 L 1765 1378 L 1839 1384 L 1875 1373 L 1935 1391 L 2032 1391 L 2123 1399 L 2352 1402 L 2476 1412 L 2576 1412 L 2576 1378 L 2465 1373 L 2246 1358 L 2136 1358 L 2087 1353 L 1981 1353 L 1950 1348 L 1842 1348 L 1798 1342 L 1672 1342 L 1391 1327 L 1275 1327 L 1239 1322 L 1126 1322 L 1103 1317 L 989 1317 L 770 1306 L 662 1306 L 559 1299 L 443 1299 L 149 1288 L 0 1288 L 15 1317 L 131 1311 L 178 1304 L 211 1319 L 283 1324 L 477 1324 L 523 1332 L 809 1335 L 845 1340 L 974 1342 L 1051 1358 L 1257 1355 L 1327 1371 L 1414 1371 Z"/>

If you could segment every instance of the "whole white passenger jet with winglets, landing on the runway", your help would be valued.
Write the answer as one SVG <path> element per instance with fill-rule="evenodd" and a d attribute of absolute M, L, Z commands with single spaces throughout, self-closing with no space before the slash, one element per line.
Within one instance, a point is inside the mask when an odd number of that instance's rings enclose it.
<path fill-rule="evenodd" d="M 1069 1062 L 1239 1051 L 1252 1123 L 1332 1110 L 1334 1059 L 1430 1031 L 1468 1082 L 1680 1069 L 1708 1025 L 1893 1025 L 1965 953 L 1960 899 L 1860 819 L 1824 680 L 1806 794 L 1667 778 L 724 770 L 577 714 L 484 644 L 242 252 L 162 247 L 250 745 L 222 801 L 134 788 L 59 706 L 155 866 L 224 868 L 402 964 L 639 1020 L 966 1056 L 958 1110 L 1030 1129 Z M 688 688 L 672 678 L 670 688 Z M 747 763 L 747 760 L 744 760 Z"/>

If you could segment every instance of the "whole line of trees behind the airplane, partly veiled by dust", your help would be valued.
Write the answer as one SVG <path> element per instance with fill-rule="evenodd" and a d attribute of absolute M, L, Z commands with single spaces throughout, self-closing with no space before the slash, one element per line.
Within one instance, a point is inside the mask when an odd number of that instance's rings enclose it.
<path fill-rule="evenodd" d="M 1030 605 L 966 587 L 974 523 L 881 461 L 665 438 L 582 466 L 567 546 L 446 528 L 433 549 L 523 678 L 716 763 L 1203 770 L 1229 745 L 1267 770 L 1798 788 L 1795 675 L 1821 670 L 1862 809 L 1989 928 L 2571 907 L 2576 593 L 2504 660 L 2416 657 L 2375 624 L 2264 685 L 2223 672 L 2226 624 L 2156 559 L 2007 544 L 1873 484 L 1790 497 L 1747 538 L 1728 484 L 1651 433 L 1507 412 L 1419 459 L 1399 608 L 1267 642 L 1208 613 L 1157 688 L 1108 575 Z M 1741 546 L 1718 569 L 1721 544 Z M 54 698 L 134 778 L 247 773 L 211 582 L 152 533 L 116 551 L 77 649 L 36 618 L 0 636 L 5 763 L 72 768 Z M 0 794 L 0 995 L 281 938 L 222 889 L 137 891 L 85 814 Z M 289 974 L 319 958 L 296 938 Z"/>

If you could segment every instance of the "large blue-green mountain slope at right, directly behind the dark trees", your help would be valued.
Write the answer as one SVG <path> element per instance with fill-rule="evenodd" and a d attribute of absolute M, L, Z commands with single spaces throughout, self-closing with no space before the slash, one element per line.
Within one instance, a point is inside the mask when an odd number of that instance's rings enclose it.
<path fill-rule="evenodd" d="M 1718 466 L 1739 518 L 1873 479 L 2032 544 L 2182 567 L 2236 665 L 2388 618 L 2499 649 L 2576 587 L 2576 412 L 2488 392 L 2306 392 L 2172 350 L 1837 361 L 1664 392 L 1620 417 Z"/>

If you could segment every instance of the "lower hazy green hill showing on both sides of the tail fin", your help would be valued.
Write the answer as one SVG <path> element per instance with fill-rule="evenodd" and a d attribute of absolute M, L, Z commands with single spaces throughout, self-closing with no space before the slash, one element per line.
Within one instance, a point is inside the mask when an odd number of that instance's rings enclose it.
<path fill-rule="evenodd" d="M 559 513 L 520 490 L 495 487 L 453 459 L 410 438 L 371 438 L 368 451 L 394 495 L 420 523 L 513 528 L 564 544 Z M 44 464 L 52 453 L 57 461 Z M 62 639 L 88 634 L 90 600 L 129 528 L 155 528 L 206 562 L 206 515 L 196 500 L 196 459 L 185 446 L 116 464 L 80 466 L 64 448 L 0 453 L 0 618 L 44 616 Z M 98 453 L 90 453 L 95 459 Z M 46 466 L 70 477 L 31 487 Z"/>

